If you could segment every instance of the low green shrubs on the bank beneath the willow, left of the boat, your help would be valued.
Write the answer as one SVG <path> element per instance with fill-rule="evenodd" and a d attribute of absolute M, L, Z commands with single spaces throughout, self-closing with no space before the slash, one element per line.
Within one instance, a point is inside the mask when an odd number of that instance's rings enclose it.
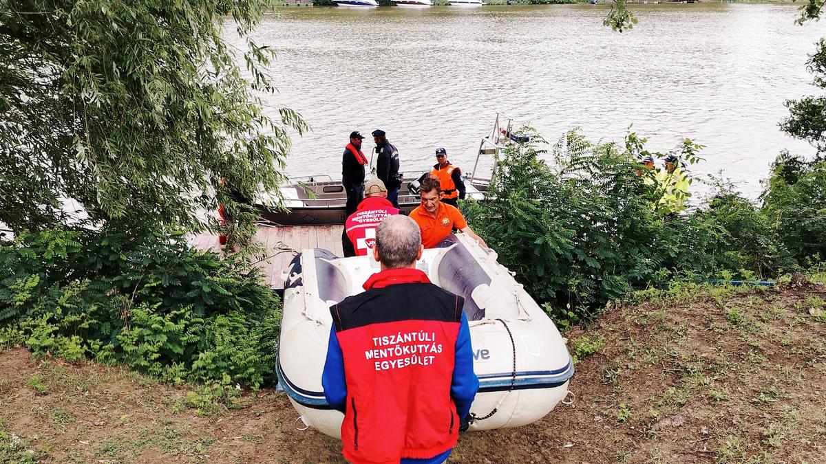
<path fill-rule="evenodd" d="M 0 276 L 3 345 L 174 384 L 274 379 L 278 298 L 243 258 L 190 249 L 182 234 L 23 233 L 0 243 Z"/>

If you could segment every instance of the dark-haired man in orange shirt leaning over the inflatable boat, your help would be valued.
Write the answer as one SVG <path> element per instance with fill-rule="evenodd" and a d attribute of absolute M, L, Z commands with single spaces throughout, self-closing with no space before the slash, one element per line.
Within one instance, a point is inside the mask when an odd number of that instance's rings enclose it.
<path fill-rule="evenodd" d="M 419 195 L 421 205 L 411 211 L 410 217 L 419 225 L 421 244 L 425 245 L 426 249 L 435 248 L 453 232 L 453 227 L 470 235 L 483 247 L 487 247 L 485 240 L 468 226 L 462 212 L 455 206 L 446 205 L 441 201 L 444 193 L 439 186 L 439 179 L 424 178 L 419 187 Z"/>

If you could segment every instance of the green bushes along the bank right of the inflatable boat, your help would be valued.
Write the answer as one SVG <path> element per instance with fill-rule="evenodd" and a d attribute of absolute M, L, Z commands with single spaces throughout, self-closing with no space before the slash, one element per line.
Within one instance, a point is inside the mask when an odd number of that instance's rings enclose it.
<path fill-rule="evenodd" d="M 694 211 L 663 214 L 651 174 L 634 174 L 644 142 L 629 134 L 624 147 L 591 144 L 574 131 L 553 146 L 551 164 L 537 144 L 511 147 L 487 201 L 467 204 L 473 228 L 556 320 L 590 318 L 675 277 L 762 278 L 826 260 L 823 160 L 781 155 L 760 207 L 718 182 Z M 684 140 L 674 153 L 687 169 L 700 148 Z"/>

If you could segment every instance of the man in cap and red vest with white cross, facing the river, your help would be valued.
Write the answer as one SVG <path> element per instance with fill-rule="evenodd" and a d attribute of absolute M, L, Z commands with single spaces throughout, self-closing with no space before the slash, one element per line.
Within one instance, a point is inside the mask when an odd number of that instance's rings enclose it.
<path fill-rule="evenodd" d="M 349 244 L 344 244 L 344 249 L 353 249 L 353 256 L 372 253 L 378 223 L 386 217 L 399 214 L 399 210 L 387 200 L 387 187 L 384 187 L 381 179 L 370 179 L 364 184 L 364 196 L 364 200 L 358 203 L 358 210 L 344 223 L 349 241 Z"/>

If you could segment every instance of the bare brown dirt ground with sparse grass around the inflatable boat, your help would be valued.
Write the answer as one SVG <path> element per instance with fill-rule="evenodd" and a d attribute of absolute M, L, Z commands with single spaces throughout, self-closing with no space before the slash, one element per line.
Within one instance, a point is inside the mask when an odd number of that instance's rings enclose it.
<path fill-rule="evenodd" d="M 824 299 L 823 287 L 720 287 L 610 310 L 568 334 L 573 405 L 464 434 L 449 461 L 826 462 Z M 283 393 L 236 405 L 7 350 L 0 462 L 343 462 L 337 440 L 297 430 Z"/>

